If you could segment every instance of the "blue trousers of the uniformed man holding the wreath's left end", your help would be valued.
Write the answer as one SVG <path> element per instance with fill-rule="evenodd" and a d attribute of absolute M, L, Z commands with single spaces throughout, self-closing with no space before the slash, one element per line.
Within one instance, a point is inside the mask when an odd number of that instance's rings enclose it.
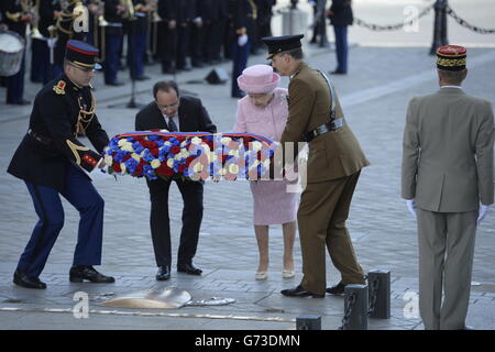
<path fill-rule="evenodd" d="M 64 227 L 64 208 L 61 194 L 80 215 L 74 265 L 99 265 L 103 233 L 105 201 L 81 170 L 67 165 L 65 188 L 54 188 L 25 183 L 40 220 L 19 260 L 18 270 L 38 277 L 50 252 Z"/>

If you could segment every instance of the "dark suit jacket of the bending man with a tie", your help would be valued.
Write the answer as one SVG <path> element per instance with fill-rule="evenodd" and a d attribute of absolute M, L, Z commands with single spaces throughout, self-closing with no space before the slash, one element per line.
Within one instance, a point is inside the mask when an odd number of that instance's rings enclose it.
<path fill-rule="evenodd" d="M 198 98 L 182 96 L 178 118 L 180 132 L 217 132 L 217 127 Z M 168 125 L 156 103 L 152 101 L 135 116 L 135 130 L 155 129 L 168 130 Z"/>

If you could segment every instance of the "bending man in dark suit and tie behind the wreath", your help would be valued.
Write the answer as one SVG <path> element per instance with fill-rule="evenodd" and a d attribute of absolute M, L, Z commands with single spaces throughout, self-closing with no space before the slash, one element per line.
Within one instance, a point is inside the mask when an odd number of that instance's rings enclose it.
<path fill-rule="evenodd" d="M 153 87 L 155 100 L 144 107 L 135 117 L 135 130 L 166 129 L 170 132 L 210 132 L 217 127 L 211 122 L 201 100 L 179 95 L 175 81 L 158 81 Z M 193 265 L 198 245 L 199 228 L 202 220 L 204 182 L 174 179 L 183 196 L 183 230 L 177 254 L 177 272 L 201 275 L 202 271 Z M 157 280 L 170 277 L 170 223 L 168 218 L 168 189 L 172 179 L 146 179 L 150 188 L 151 231 L 158 272 Z"/>

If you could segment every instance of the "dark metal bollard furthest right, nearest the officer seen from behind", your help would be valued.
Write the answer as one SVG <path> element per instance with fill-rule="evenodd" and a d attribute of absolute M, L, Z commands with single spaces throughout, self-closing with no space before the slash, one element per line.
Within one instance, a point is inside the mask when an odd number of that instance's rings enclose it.
<path fill-rule="evenodd" d="M 367 273 L 370 287 L 370 318 L 391 319 L 391 272 L 371 271 Z"/>

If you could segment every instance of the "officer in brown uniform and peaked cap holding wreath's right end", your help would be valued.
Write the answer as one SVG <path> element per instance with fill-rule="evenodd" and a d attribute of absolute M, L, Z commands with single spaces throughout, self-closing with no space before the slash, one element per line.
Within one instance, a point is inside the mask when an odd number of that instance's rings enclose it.
<path fill-rule="evenodd" d="M 304 277 L 297 287 L 284 289 L 282 294 L 323 297 L 326 248 L 342 276 L 327 292 L 343 294 L 346 284 L 364 284 L 345 220 L 361 168 L 370 163 L 343 118 L 328 78 L 302 62 L 302 36 L 263 38 L 268 45 L 272 66 L 282 76 L 292 77 L 289 114 L 282 145 L 309 142 L 307 186 L 297 213 Z"/>

